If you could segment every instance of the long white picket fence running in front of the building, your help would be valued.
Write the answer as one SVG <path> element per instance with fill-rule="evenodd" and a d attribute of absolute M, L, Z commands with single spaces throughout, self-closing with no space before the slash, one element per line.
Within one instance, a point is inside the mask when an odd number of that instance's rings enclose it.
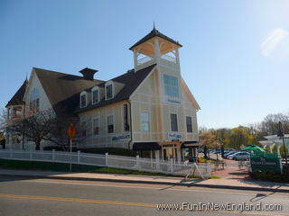
<path fill-rule="evenodd" d="M 70 163 L 70 152 L 66 151 L 25 151 L 0 149 L 0 158 L 13 160 L 43 161 L 55 163 Z M 125 168 L 130 170 L 163 173 L 170 175 L 183 175 L 192 173 L 194 176 L 208 178 L 211 175 L 210 164 L 198 164 L 199 170 L 191 163 L 178 163 L 167 160 L 158 160 L 143 157 L 124 157 L 116 155 L 100 155 L 82 152 L 71 153 L 71 163 L 77 165 L 89 166 L 107 166 L 116 168 Z M 192 172 L 191 172 L 192 171 Z"/>

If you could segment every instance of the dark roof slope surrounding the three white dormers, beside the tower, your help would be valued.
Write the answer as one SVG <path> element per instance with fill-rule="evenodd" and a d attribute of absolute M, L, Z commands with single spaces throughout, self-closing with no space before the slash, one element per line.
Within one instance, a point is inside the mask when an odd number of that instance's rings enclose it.
<path fill-rule="evenodd" d="M 99 103 L 92 104 L 89 103 L 86 107 L 78 108 L 76 112 L 84 112 L 90 109 L 98 108 L 100 106 L 105 106 L 111 103 L 117 103 L 129 99 L 129 96 L 135 92 L 135 89 L 140 85 L 146 76 L 154 69 L 156 64 L 149 67 L 145 67 L 141 70 L 138 70 L 135 73 L 135 70 L 132 69 L 126 74 L 117 76 L 111 79 L 114 82 L 124 84 L 123 88 L 115 95 L 112 99 L 106 100 L 105 97 L 101 99 Z M 98 85 L 99 87 L 105 87 L 105 83 Z M 89 89 L 90 90 L 90 89 Z"/>

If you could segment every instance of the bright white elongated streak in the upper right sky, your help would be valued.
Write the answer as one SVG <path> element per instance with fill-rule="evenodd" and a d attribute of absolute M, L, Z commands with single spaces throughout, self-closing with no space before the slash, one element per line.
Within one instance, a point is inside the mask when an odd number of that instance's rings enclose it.
<path fill-rule="evenodd" d="M 265 57 L 269 57 L 288 36 L 289 32 L 283 29 L 275 29 L 272 31 L 260 46 L 262 54 Z"/>

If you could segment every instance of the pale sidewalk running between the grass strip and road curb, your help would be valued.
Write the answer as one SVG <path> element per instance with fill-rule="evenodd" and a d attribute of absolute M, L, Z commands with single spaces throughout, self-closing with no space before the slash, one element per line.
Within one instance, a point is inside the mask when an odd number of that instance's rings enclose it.
<path fill-rule="evenodd" d="M 117 175 L 117 174 L 92 174 L 92 173 L 64 173 L 49 171 L 28 171 L 0 169 L 0 176 L 14 176 L 21 178 L 48 178 L 79 181 L 106 181 L 131 184 L 168 184 L 179 186 L 198 186 L 208 188 L 223 188 L 236 190 L 254 190 L 267 192 L 289 193 L 289 184 L 254 181 L 250 179 L 188 179 L 170 176 L 149 175 Z"/>

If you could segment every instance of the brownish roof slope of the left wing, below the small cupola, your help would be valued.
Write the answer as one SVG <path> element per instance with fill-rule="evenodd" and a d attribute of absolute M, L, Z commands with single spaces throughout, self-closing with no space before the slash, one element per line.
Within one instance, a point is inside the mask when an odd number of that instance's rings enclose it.
<path fill-rule="evenodd" d="M 79 103 L 79 92 L 104 82 L 42 68 L 33 67 L 33 70 L 38 76 L 54 111 L 61 115 L 70 115 L 74 112 Z"/>

